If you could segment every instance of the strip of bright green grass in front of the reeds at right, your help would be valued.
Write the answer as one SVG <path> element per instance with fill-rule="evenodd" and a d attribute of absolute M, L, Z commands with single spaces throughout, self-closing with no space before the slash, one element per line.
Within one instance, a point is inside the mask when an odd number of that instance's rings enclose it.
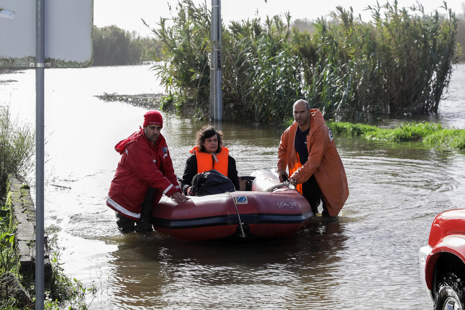
<path fill-rule="evenodd" d="M 334 133 L 350 136 L 396 142 L 423 141 L 432 147 L 465 150 L 465 129 L 443 128 L 441 124 L 402 123 L 394 129 L 345 122 L 328 122 L 327 125 Z"/>

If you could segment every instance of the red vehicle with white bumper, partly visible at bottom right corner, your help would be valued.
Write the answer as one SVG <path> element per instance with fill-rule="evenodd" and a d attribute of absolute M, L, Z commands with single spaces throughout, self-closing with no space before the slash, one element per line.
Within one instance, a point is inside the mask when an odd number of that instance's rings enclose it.
<path fill-rule="evenodd" d="M 428 245 L 419 250 L 423 285 L 435 310 L 465 308 L 465 209 L 434 218 Z"/>

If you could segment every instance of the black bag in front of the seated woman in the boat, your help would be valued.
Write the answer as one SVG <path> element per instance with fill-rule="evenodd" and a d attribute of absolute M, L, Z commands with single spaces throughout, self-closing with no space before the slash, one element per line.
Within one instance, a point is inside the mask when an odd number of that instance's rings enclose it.
<path fill-rule="evenodd" d="M 197 173 L 192 178 L 192 195 L 206 196 L 235 191 L 233 181 L 215 169 Z"/>

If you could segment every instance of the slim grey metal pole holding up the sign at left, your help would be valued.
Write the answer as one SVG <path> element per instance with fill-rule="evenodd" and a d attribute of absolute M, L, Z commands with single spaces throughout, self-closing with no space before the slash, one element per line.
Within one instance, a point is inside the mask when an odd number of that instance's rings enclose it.
<path fill-rule="evenodd" d="M 44 309 L 45 0 L 36 0 L 35 29 L 35 309 Z"/>

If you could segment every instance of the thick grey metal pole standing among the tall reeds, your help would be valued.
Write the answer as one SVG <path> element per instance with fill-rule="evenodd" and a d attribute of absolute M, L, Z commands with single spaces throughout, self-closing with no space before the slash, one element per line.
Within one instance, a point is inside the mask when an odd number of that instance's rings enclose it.
<path fill-rule="evenodd" d="M 221 69 L 221 0 L 212 0 L 212 54 L 210 73 L 210 120 L 223 119 Z"/>

